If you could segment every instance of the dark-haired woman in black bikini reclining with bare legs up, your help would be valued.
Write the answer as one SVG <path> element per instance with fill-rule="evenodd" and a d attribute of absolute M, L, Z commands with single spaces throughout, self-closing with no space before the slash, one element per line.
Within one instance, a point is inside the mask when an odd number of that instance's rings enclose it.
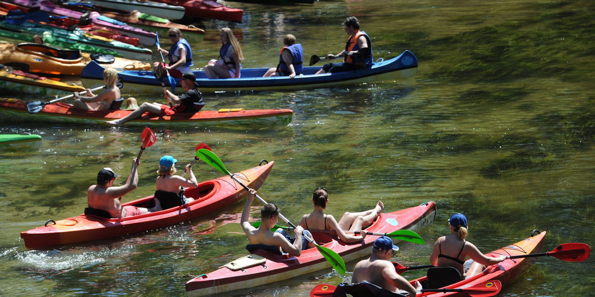
<path fill-rule="evenodd" d="M 337 223 L 337 220 L 330 214 L 324 214 L 324 210 L 328 203 L 328 192 L 324 188 L 317 188 L 312 197 L 312 204 L 314 204 L 314 211 L 309 214 L 304 214 L 299 225 L 303 229 L 309 230 L 334 230 L 343 242 L 359 242 L 362 241 L 368 234 L 364 228 L 368 228 L 376 217 L 384 209 L 384 204 L 378 201 L 378 204 L 367 211 L 360 213 L 345 213 Z M 360 235 L 348 235 L 344 230 L 361 232 Z"/>

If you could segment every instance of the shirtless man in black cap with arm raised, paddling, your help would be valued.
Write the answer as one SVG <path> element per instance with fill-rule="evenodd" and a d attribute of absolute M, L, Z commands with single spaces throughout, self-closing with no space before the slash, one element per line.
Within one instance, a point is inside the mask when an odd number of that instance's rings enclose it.
<path fill-rule="evenodd" d="M 136 189 L 139 182 L 139 173 L 136 170 L 136 158 L 132 160 L 132 169 L 126 184 L 114 187 L 115 178 L 118 175 L 111 168 L 104 168 L 97 173 L 97 184 L 89 187 L 87 191 L 87 203 L 89 207 L 105 210 L 111 217 L 137 216 L 149 212 L 148 208 L 126 206 L 122 207 L 120 197 Z"/>

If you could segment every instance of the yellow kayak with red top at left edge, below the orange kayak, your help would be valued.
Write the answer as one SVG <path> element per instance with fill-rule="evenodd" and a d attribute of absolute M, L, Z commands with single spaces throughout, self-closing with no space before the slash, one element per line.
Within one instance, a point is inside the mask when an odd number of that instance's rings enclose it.
<path fill-rule="evenodd" d="M 84 91 L 83 87 L 61 83 L 32 73 L 17 71 L 10 67 L 0 69 L 0 89 L 26 94 L 60 95 Z M 0 119 L 1 120 L 1 119 Z M 10 119 L 5 119 L 10 121 Z"/>

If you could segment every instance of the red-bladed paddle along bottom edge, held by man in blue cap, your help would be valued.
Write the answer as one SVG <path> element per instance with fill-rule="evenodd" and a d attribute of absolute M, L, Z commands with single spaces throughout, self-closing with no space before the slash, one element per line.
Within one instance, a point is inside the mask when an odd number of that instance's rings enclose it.
<path fill-rule="evenodd" d="M 317 285 L 310 291 L 311 297 L 331 297 L 336 289 L 336 286 L 332 285 Z M 489 297 L 497 295 L 502 289 L 502 283 L 499 280 L 488 280 L 487 282 L 478 283 L 471 287 L 461 287 L 458 289 L 421 289 L 417 292 L 465 292 L 471 297 Z"/>

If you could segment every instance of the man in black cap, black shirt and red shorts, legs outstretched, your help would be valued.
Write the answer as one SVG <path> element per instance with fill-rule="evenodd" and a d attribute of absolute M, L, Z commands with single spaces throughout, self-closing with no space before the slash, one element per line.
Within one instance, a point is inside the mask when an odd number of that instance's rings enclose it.
<path fill-rule="evenodd" d="M 186 89 L 186 93 L 181 96 L 176 96 L 169 90 L 165 90 L 165 97 L 168 97 L 171 102 L 176 104 L 173 107 L 163 105 L 161 103 L 145 102 L 139 106 L 138 109 L 130 113 L 130 115 L 124 116 L 121 119 L 114 119 L 114 121 L 106 121 L 106 124 L 121 126 L 131 119 L 140 118 L 145 112 L 156 113 L 158 115 L 174 115 L 180 112 L 198 112 L 205 106 L 205 102 L 202 101 L 201 91 L 196 89 L 198 83 L 196 83 L 196 75 L 192 71 L 184 72 L 180 81 L 182 87 Z"/>

